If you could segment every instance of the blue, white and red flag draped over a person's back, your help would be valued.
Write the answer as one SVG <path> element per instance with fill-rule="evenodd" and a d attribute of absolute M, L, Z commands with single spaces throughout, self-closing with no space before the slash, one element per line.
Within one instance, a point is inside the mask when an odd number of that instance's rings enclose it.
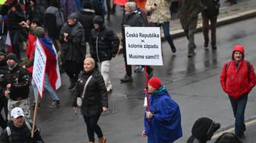
<path fill-rule="evenodd" d="M 41 47 L 44 49 L 44 53 L 46 54 L 47 61 L 45 72 L 49 77 L 49 81 L 51 82 L 52 89 L 59 89 L 61 84 L 61 77 L 59 73 L 59 63 L 57 58 L 57 52 L 52 44 L 52 40 L 49 37 L 39 37 L 38 40 L 41 42 Z"/>

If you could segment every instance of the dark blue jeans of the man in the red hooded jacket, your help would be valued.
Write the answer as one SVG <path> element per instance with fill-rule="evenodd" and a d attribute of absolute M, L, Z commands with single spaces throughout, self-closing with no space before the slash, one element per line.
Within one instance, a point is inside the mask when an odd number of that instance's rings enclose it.
<path fill-rule="evenodd" d="M 233 109 L 234 117 L 236 118 L 235 121 L 235 134 L 238 137 L 244 135 L 244 131 L 246 130 L 244 124 L 244 110 L 247 104 L 248 95 L 243 95 L 240 99 L 233 99 L 229 96 L 229 100 Z"/>

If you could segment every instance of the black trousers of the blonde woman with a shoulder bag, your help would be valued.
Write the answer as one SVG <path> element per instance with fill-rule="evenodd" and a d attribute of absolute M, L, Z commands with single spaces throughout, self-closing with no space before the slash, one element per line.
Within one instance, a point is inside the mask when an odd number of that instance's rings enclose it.
<path fill-rule="evenodd" d="M 101 127 L 98 126 L 98 119 L 100 118 L 100 116 L 101 113 L 93 115 L 91 117 L 84 116 L 84 121 L 87 125 L 87 135 L 89 141 L 94 141 L 94 132 L 98 135 L 98 138 L 103 137 Z"/>

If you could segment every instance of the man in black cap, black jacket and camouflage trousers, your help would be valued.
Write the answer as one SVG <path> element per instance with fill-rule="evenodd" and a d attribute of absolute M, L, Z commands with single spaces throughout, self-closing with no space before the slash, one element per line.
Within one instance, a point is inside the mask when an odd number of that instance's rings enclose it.
<path fill-rule="evenodd" d="M 18 65 L 16 54 L 7 54 L 6 62 L 9 67 L 5 89 L 5 97 L 8 98 L 8 119 L 11 110 L 18 106 L 23 109 L 25 119 L 30 120 L 30 75 L 26 68 Z"/>

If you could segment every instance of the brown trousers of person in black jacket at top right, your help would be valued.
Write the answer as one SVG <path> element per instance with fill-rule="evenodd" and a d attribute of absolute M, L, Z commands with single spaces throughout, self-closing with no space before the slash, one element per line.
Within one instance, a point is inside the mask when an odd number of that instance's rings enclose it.
<path fill-rule="evenodd" d="M 216 44 L 216 23 L 217 23 L 217 16 L 212 16 L 212 17 L 208 17 L 208 16 L 204 16 L 203 17 L 203 33 L 204 33 L 204 43 L 208 44 L 209 42 L 209 21 L 211 22 L 211 44 L 212 46 L 214 46 Z"/>

